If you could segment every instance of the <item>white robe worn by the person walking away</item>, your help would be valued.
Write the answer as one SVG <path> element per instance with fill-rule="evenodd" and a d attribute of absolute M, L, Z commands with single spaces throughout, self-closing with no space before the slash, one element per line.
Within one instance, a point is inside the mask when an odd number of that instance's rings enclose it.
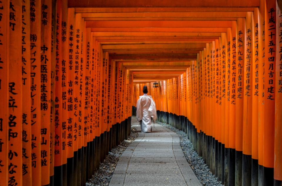
<path fill-rule="evenodd" d="M 142 120 L 141 132 L 152 132 L 152 122 L 157 120 L 156 104 L 152 96 L 140 95 L 136 105 L 136 117 L 138 121 Z"/>

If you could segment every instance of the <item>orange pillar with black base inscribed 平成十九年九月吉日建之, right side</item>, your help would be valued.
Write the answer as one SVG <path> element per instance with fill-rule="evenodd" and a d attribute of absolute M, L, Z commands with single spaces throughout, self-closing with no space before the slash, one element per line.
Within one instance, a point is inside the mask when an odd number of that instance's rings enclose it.
<path fill-rule="evenodd" d="M 236 22 L 236 163 L 235 185 L 242 184 L 242 151 L 243 151 L 243 103 L 244 103 L 244 64 L 245 64 L 245 18 Z"/>

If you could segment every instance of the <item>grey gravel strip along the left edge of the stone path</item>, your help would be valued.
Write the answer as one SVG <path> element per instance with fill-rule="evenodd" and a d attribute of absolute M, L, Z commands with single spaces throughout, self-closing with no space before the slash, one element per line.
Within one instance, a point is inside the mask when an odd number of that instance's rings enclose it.
<path fill-rule="evenodd" d="M 97 170 L 92 178 L 86 182 L 86 186 L 106 186 L 109 185 L 117 162 L 120 159 L 120 156 L 128 147 L 138 137 L 138 132 L 134 127 L 131 127 L 131 134 L 128 138 L 120 143 L 119 146 L 113 148 L 109 154 L 106 156 L 106 159 L 103 163 L 100 163 L 100 169 Z"/>

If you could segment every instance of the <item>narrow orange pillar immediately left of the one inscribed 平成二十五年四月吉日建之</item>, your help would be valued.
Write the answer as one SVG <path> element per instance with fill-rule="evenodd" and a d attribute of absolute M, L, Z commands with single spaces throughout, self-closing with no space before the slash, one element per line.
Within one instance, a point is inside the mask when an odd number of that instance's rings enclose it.
<path fill-rule="evenodd" d="M 259 144 L 258 144 L 258 158 L 259 158 L 259 173 L 258 184 L 263 184 L 263 133 L 264 133 L 264 5 L 265 1 L 260 0 L 259 16 L 258 16 L 258 60 L 259 60 Z"/>

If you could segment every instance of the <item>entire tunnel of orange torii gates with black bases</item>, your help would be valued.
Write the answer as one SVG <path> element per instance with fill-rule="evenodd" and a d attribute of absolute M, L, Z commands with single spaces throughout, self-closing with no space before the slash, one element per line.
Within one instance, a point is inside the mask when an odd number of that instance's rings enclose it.
<path fill-rule="evenodd" d="M 0 0 L 0 185 L 85 185 L 147 85 L 219 181 L 281 186 L 281 7 Z"/>

